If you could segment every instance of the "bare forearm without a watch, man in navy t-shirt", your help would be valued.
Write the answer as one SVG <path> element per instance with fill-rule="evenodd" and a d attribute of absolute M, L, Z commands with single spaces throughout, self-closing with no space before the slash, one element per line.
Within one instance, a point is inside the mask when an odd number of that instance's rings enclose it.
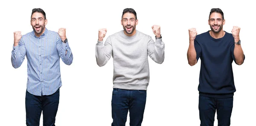
<path fill-rule="evenodd" d="M 189 40 L 189 49 L 187 52 L 187 59 L 190 66 L 193 66 L 197 63 L 194 40 Z"/>

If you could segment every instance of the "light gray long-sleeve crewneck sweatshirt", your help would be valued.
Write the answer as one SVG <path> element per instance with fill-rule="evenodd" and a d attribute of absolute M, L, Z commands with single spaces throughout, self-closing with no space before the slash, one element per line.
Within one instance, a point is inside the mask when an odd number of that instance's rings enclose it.
<path fill-rule="evenodd" d="M 96 61 L 102 67 L 113 57 L 113 88 L 147 90 L 149 83 L 148 56 L 159 64 L 164 61 L 165 45 L 162 39 L 136 31 L 126 36 L 119 31 L 96 44 Z"/>

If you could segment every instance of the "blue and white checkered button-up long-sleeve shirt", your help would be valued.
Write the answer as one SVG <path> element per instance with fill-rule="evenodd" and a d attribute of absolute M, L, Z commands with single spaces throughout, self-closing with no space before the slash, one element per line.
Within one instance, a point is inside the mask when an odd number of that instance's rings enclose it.
<path fill-rule="evenodd" d="M 67 54 L 66 54 L 67 51 Z M 27 58 L 27 91 L 33 95 L 51 95 L 61 87 L 60 58 L 70 65 L 73 54 L 68 42 L 61 41 L 55 31 L 45 28 L 44 33 L 37 37 L 35 32 L 23 35 L 17 46 L 12 50 L 12 66 L 20 67 Z"/>

